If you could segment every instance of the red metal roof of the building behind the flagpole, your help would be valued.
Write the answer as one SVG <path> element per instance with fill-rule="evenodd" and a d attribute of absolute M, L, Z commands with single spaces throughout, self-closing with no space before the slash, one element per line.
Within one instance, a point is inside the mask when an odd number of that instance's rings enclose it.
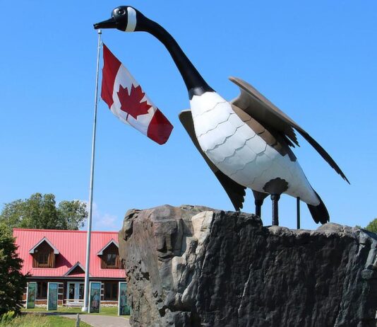
<path fill-rule="evenodd" d="M 54 229 L 13 229 L 16 237 L 18 256 L 23 259 L 23 274 L 29 272 L 34 277 L 64 277 L 79 262 L 85 268 L 86 231 L 61 231 Z M 46 237 L 59 250 L 56 255 L 55 268 L 32 268 L 32 255 L 29 253 L 41 239 Z M 116 231 L 92 231 L 90 242 L 90 277 L 124 278 L 123 269 L 101 269 L 101 258 L 97 253 L 114 239 L 118 242 Z M 73 274 L 68 277 L 84 277 Z"/>

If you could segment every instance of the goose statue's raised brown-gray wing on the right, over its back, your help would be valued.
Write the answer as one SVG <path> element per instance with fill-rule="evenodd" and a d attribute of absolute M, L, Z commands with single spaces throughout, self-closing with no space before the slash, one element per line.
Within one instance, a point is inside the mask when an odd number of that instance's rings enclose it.
<path fill-rule="evenodd" d="M 328 164 L 335 169 L 335 171 L 342 176 L 343 179 L 349 183 L 349 180 L 342 172 L 342 170 L 337 166 L 334 159 L 331 158 L 323 147 L 321 147 L 318 142 L 316 142 L 313 137 L 309 135 L 304 129 L 297 125 L 294 120 L 288 117 L 285 113 L 277 108 L 273 103 L 271 103 L 267 98 L 265 98 L 261 93 L 259 93 L 256 88 L 253 88 L 249 83 L 236 77 L 230 77 L 230 81 L 239 86 L 241 94 L 238 98 L 234 99 L 232 103 L 237 105 L 237 107 L 244 110 L 246 113 L 251 115 L 259 122 L 264 122 L 265 124 L 273 127 L 273 129 L 285 135 L 289 145 L 294 147 L 294 144 L 299 145 L 297 142 L 296 134 L 294 130 L 297 130 L 306 141 L 311 144 L 311 146 L 321 154 L 322 158 L 328 162 Z"/>

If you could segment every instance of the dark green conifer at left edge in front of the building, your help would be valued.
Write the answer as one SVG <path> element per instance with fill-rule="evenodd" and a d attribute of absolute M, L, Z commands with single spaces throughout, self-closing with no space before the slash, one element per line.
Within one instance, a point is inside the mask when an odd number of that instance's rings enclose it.
<path fill-rule="evenodd" d="M 22 260 L 16 253 L 11 230 L 0 224 L 0 316 L 7 311 L 20 311 L 26 277 L 21 274 Z"/>

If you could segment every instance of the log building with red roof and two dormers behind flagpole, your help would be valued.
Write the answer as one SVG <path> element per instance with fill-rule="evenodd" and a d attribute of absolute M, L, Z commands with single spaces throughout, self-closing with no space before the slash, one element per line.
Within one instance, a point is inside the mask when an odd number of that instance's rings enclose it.
<path fill-rule="evenodd" d="M 59 282 L 59 304 L 82 304 L 86 231 L 13 229 L 23 274 L 37 282 L 36 304 L 47 301 L 48 282 Z M 126 274 L 119 258 L 116 231 L 92 231 L 90 281 L 102 282 L 101 302 L 116 303 Z"/>

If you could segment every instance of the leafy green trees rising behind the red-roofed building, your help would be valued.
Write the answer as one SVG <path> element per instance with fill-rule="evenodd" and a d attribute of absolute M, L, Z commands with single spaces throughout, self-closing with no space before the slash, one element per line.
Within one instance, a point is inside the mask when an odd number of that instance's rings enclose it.
<path fill-rule="evenodd" d="M 86 205 L 78 200 L 61 201 L 55 195 L 35 193 L 25 200 L 4 205 L 0 222 L 11 228 L 79 229 L 88 217 Z"/>

